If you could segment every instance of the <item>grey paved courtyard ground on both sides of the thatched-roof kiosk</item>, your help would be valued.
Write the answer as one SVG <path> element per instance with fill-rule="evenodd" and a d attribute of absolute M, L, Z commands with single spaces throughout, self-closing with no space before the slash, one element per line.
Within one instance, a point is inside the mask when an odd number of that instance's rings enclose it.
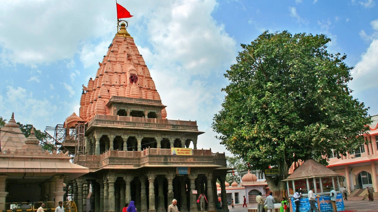
<path fill-rule="evenodd" d="M 345 210 L 357 210 L 357 212 L 378 212 L 378 200 L 369 201 L 362 200 L 362 197 L 351 197 L 349 201 L 344 201 Z M 257 207 L 257 204 L 248 204 L 248 207 Z M 231 205 L 228 206 L 230 212 L 247 212 L 246 207 L 242 207 L 242 204 L 235 205 L 233 209 Z"/>

